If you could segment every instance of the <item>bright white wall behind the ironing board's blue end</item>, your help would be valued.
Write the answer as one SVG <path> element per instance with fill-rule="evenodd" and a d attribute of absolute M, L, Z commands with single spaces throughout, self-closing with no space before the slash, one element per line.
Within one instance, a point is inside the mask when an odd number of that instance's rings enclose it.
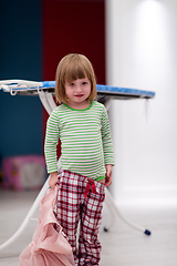
<path fill-rule="evenodd" d="M 176 0 L 106 1 L 107 84 L 156 92 L 148 109 L 113 101 L 116 203 L 177 202 L 176 14 Z"/>

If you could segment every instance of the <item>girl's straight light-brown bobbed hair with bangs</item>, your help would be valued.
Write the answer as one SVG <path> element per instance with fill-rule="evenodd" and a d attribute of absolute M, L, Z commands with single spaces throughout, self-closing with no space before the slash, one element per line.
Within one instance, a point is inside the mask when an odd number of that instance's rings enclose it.
<path fill-rule="evenodd" d="M 87 78 L 91 81 L 88 101 L 96 98 L 96 78 L 90 60 L 83 54 L 71 53 L 65 55 L 58 64 L 55 74 L 55 96 L 59 103 L 66 103 L 65 82 Z"/>

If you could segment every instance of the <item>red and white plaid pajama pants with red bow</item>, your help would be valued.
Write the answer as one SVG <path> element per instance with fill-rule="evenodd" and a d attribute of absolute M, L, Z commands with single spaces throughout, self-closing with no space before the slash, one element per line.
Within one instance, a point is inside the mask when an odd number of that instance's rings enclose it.
<path fill-rule="evenodd" d="M 60 173 L 56 217 L 69 237 L 77 266 L 100 263 L 102 246 L 97 234 L 104 198 L 104 184 L 65 170 Z"/>

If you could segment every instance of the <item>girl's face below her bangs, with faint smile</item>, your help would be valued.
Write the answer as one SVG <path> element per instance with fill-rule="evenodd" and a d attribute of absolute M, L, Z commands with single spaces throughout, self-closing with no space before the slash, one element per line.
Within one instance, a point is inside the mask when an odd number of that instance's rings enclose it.
<path fill-rule="evenodd" d="M 87 78 L 77 79 L 71 83 L 65 82 L 65 94 L 67 105 L 74 109 L 86 109 L 90 106 L 87 98 L 91 94 L 91 81 Z"/>

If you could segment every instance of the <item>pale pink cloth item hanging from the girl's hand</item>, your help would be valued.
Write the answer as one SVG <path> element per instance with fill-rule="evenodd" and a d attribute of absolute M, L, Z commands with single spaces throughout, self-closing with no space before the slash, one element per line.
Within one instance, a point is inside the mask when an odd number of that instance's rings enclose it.
<path fill-rule="evenodd" d="M 75 266 L 72 247 L 62 233 L 53 208 L 58 186 L 49 190 L 40 204 L 40 218 L 33 241 L 20 255 L 20 266 Z M 55 227 L 60 226 L 60 232 Z"/>

